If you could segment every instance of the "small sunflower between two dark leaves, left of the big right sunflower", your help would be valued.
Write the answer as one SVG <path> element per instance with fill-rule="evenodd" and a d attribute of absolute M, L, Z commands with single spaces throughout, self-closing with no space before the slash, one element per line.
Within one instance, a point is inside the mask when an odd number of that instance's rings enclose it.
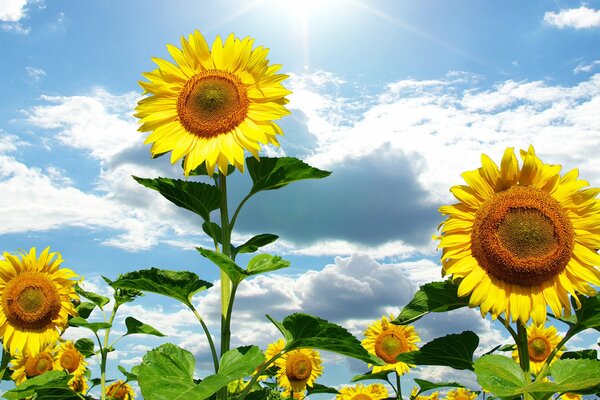
<path fill-rule="evenodd" d="M 390 315 L 390 320 L 394 316 Z M 421 339 L 415 333 L 415 328 L 410 325 L 393 325 L 383 316 L 380 321 L 373 322 L 364 332 L 365 338 L 361 342 L 363 347 L 371 354 L 385 361 L 386 365 L 373 366 L 373 373 L 381 371 L 396 371 L 403 375 L 412 365 L 396 361 L 400 353 L 417 350 L 415 343 Z"/>

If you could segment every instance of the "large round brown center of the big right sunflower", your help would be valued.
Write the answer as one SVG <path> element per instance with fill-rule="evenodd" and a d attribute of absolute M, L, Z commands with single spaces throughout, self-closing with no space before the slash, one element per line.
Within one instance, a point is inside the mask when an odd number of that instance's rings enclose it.
<path fill-rule="evenodd" d="M 475 214 L 471 252 L 493 277 L 531 287 L 564 270 L 573 242 L 573 225 L 557 200 L 540 189 L 513 186 Z"/>

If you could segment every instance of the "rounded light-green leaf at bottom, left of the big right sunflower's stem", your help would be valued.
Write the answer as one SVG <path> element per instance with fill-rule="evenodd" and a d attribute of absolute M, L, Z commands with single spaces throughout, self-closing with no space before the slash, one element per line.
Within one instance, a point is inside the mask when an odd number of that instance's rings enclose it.
<path fill-rule="evenodd" d="M 473 364 L 477 382 L 488 392 L 500 397 L 516 396 L 525 386 L 523 370 L 512 358 L 491 354 Z"/>

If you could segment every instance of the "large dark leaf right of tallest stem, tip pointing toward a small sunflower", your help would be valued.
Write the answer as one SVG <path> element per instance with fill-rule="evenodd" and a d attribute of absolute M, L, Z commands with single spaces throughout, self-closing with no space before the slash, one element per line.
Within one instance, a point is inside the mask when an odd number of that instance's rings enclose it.
<path fill-rule="evenodd" d="M 332 351 L 354 357 L 371 364 L 378 364 L 365 348 L 345 328 L 312 315 L 295 313 L 277 322 L 267 316 L 283 333 L 285 350 L 312 348 Z"/>

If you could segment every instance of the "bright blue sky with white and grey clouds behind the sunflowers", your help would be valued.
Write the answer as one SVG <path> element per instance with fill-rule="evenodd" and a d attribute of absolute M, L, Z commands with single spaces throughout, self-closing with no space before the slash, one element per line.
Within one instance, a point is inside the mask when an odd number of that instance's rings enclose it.
<path fill-rule="evenodd" d="M 133 110 L 151 58 L 169 59 L 166 44 L 196 29 L 209 43 L 233 32 L 270 49 L 289 75 L 292 113 L 279 121 L 281 147 L 262 154 L 332 171 L 262 193 L 241 214 L 234 242 L 277 234 L 265 251 L 292 266 L 240 287 L 234 344 L 275 341 L 265 314 L 306 312 L 359 339 L 372 321 L 397 314 L 419 285 L 442 279 L 437 209 L 454 202 L 449 188 L 482 153 L 499 162 L 506 147 L 532 144 L 544 162 L 579 168 L 600 186 L 598 0 L 2 0 L 0 251 L 50 246 L 100 293 L 108 293 L 101 275 L 194 271 L 214 284 L 194 301 L 217 332 L 219 275 L 194 250 L 210 247 L 201 221 L 131 178 L 182 178 L 168 157 L 150 158 Z M 248 175 L 229 187 L 235 204 Z M 200 375 L 210 368 L 200 329 L 178 304 L 156 295 L 127 304 L 116 333 L 129 315 L 192 351 Z M 478 354 L 509 342 L 471 309 L 415 326 L 423 343 L 473 330 Z M 162 342 L 119 342 L 113 378 L 116 364 L 129 369 Z M 582 334 L 569 347 L 596 342 Z M 323 358 L 322 384 L 367 371 Z M 477 387 L 472 374 L 430 367 L 403 378 L 405 394 L 414 377 Z"/>

